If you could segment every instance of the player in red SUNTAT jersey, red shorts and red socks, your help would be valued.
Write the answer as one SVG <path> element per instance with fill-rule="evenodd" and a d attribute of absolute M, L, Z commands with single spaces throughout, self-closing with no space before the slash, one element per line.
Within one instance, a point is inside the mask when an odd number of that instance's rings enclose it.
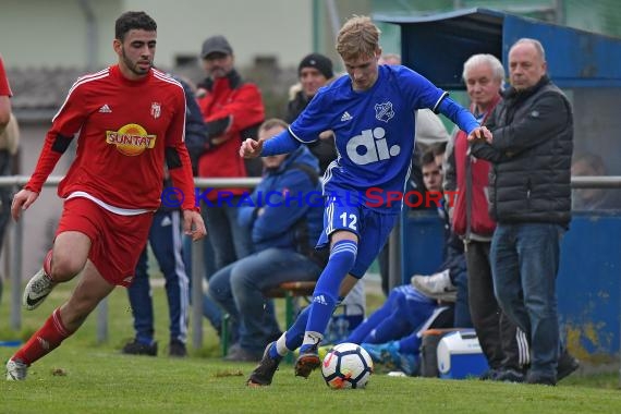
<path fill-rule="evenodd" d="M 115 285 L 132 282 L 160 205 L 165 160 L 184 195 L 184 232 L 193 240 L 206 234 L 184 143 L 185 96 L 181 84 L 153 68 L 156 31 L 144 12 L 117 20 L 119 63 L 72 86 L 35 172 L 13 198 L 11 214 L 17 220 L 80 132 L 75 160 L 58 187 L 65 202 L 53 247 L 26 285 L 23 304 L 34 309 L 56 284 L 82 278 L 71 297 L 9 360 L 7 379 L 25 379 L 27 367 L 75 332 Z"/>

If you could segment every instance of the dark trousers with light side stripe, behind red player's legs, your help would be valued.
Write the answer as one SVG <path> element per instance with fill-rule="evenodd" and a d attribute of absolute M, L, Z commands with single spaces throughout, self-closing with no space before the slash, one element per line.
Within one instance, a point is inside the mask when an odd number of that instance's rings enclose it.
<path fill-rule="evenodd" d="M 170 340 L 185 343 L 190 303 L 188 277 L 182 257 L 180 211 L 157 211 L 149 230 L 149 243 L 166 280 L 170 315 Z M 127 288 L 136 339 L 154 340 L 154 307 L 149 284 L 147 249 L 143 251 L 134 281 Z"/>

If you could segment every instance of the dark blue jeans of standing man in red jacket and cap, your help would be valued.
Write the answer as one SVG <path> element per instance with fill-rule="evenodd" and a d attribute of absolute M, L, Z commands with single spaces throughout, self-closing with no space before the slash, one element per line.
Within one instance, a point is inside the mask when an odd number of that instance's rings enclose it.
<path fill-rule="evenodd" d="M 240 196 L 231 198 L 231 206 L 204 206 L 203 219 L 209 232 L 209 243 L 214 248 L 214 268 L 220 270 L 235 260 L 246 257 L 254 251 L 251 231 L 240 226 L 236 204 Z"/>

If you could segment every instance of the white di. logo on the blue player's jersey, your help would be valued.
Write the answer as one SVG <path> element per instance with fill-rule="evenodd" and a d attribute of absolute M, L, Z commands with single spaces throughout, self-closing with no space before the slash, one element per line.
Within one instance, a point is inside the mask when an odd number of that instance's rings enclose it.
<path fill-rule="evenodd" d="M 348 156 L 352 162 L 358 166 L 397 157 L 401 153 L 401 147 L 393 145 L 388 148 L 385 136 L 386 131 L 382 127 L 364 130 L 361 135 L 356 135 L 348 142 Z"/>

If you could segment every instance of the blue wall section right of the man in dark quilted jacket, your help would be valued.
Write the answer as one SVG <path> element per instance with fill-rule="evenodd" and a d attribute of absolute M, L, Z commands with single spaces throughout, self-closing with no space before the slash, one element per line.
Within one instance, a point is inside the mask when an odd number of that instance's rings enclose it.
<path fill-rule="evenodd" d="M 568 344 L 579 358 L 619 352 L 621 214 L 574 212 L 557 283 Z"/>

